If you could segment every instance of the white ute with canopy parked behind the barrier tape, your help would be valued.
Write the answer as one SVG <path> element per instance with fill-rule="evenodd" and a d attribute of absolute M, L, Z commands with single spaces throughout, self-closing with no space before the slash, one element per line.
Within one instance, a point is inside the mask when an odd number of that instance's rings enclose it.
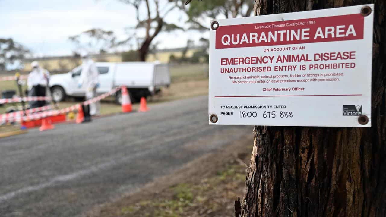
<path fill-rule="evenodd" d="M 154 95 L 163 86 L 170 85 L 168 64 L 158 62 L 125 62 L 125 63 L 95 63 L 99 71 L 99 88 L 97 92 L 107 93 L 115 87 L 126 86 L 130 98 L 138 102 L 141 97 Z M 82 67 L 78 66 L 69 73 L 52 75 L 50 88 L 55 101 L 63 101 L 66 97 L 84 97 L 85 89 L 78 88 Z M 120 91 L 115 95 L 120 103 Z"/>

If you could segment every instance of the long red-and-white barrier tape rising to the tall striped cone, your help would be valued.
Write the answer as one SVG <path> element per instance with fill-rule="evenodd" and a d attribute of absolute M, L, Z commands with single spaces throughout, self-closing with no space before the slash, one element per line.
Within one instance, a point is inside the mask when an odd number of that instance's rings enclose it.
<path fill-rule="evenodd" d="M 113 95 L 114 93 L 116 93 L 120 88 L 115 88 L 107 93 L 103 93 L 102 95 L 98 96 L 98 97 L 94 97 L 90 100 L 87 100 L 85 102 L 83 102 L 82 104 L 83 105 L 89 105 L 91 103 L 95 103 L 95 102 L 98 102 L 110 95 Z M 53 116 L 53 115 L 59 115 L 59 114 L 66 114 L 68 112 L 72 112 L 74 110 L 77 110 L 79 107 L 80 107 L 80 103 L 76 104 L 76 105 L 72 105 L 70 107 L 67 107 L 67 108 L 63 108 L 63 109 L 60 109 L 60 110 L 51 110 L 51 111 L 44 111 L 44 112 L 39 112 L 39 113 L 34 113 L 34 114 L 29 114 L 29 115 L 26 115 L 26 116 L 22 116 L 23 113 L 19 114 L 19 115 L 16 115 L 16 116 L 12 116 L 12 117 L 7 117 L 7 119 L 3 119 L 3 121 L 16 121 L 16 122 L 20 122 L 20 121 L 29 121 L 29 120 L 36 120 L 36 119 L 42 119 L 44 117 L 49 117 L 49 116 Z M 7 114 L 5 114 L 7 115 Z M 1 119 L 0 119 L 1 121 Z"/>

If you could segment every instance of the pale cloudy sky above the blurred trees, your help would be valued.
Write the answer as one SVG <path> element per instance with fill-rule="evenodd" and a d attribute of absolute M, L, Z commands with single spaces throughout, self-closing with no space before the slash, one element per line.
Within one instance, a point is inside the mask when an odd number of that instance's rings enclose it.
<path fill-rule="evenodd" d="M 125 28 L 136 24 L 134 8 L 118 0 L 0 0 L 0 14 L 0 38 L 14 39 L 35 57 L 71 55 L 75 46 L 68 37 L 92 28 L 113 31 L 124 39 Z M 167 22 L 183 26 L 186 19 L 178 10 L 166 17 Z M 209 31 L 174 31 L 155 40 L 163 49 L 183 47 L 188 39 L 198 41 L 203 36 L 208 37 Z"/>

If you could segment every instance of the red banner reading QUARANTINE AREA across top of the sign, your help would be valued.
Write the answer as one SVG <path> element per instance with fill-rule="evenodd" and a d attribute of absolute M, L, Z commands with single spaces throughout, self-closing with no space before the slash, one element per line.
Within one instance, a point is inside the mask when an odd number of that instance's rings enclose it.
<path fill-rule="evenodd" d="M 364 17 L 350 14 L 256 24 L 216 30 L 216 49 L 363 39 Z"/>

